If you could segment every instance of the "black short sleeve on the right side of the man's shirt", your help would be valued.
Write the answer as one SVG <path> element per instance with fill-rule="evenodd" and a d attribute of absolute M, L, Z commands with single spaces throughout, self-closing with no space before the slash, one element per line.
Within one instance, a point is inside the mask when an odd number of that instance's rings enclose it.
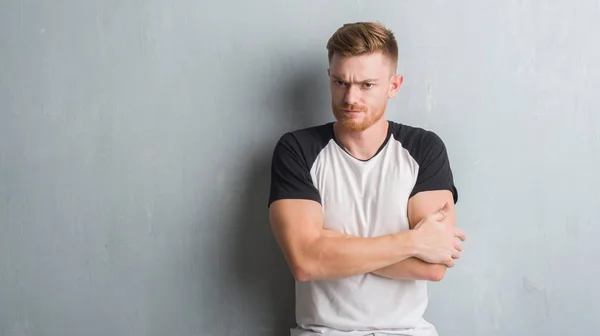
<path fill-rule="evenodd" d="M 450 190 L 454 203 L 458 202 L 458 190 L 454 184 L 450 160 L 442 139 L 433 132 L 426 132 L 421 138 L 415 156 L 419 171 L 410 196 L 421 191 Z"/>

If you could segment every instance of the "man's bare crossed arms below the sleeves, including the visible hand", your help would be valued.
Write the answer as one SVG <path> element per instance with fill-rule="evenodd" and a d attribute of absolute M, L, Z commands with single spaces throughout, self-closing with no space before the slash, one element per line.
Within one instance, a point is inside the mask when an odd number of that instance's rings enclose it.
<path fill-rule="evenodd" d="M 424 191 L 408 203 L 411 230 L 364 238 L 323 228 L 320 204 L 281 199 L 269 209 L 275 238 L 297 281 L 373 273 L 440 281 L 460 258 L 465 233 L 455 227 L 452 194 Z"/>

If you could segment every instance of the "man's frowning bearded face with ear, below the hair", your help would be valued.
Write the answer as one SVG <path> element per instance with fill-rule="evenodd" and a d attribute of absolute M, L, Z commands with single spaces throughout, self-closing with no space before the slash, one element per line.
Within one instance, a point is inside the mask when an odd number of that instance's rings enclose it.
<path fill-rule="evenodd" d="M 381 53 L 342 57 L 334 54 L 327 71 L 333 115 L 349 131 L 364 131 L 382 119 L 402 76 Z"/>

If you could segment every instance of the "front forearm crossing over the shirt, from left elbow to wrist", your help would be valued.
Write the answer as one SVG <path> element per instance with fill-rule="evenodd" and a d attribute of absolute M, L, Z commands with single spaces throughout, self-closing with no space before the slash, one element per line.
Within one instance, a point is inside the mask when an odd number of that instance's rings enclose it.
<path fill-rule="evenodd" d="M 305 247 L 301 280 L 343 278 L 385 269 L 415 255 L 410 231 L 363 238 L 323 230 Z"/>

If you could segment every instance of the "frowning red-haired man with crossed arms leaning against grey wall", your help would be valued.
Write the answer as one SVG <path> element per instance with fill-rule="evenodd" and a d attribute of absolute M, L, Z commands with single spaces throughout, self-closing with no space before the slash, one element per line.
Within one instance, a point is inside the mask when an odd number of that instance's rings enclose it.
<path fill-rule="evenodd" d="M 391 31 L 346 24 L 327 49 L 336 121 L 284 134 L 271 168 L 271 227 L 296 279 L 292 335 L 437 335 L 426 281 L 465 239 L 444 143 L 384 118 L 402 83 Z"/>

